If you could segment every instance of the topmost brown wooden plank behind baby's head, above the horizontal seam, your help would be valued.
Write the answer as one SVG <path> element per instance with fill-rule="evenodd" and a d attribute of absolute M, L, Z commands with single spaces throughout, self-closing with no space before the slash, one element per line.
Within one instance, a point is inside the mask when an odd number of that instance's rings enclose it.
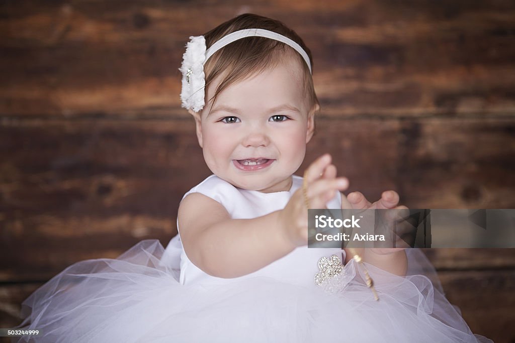
<path fill-rule="evenodd" d="M 507 115 L 515 5 L 495 2 L 136 1 L 0 8 L 0 113 L 186 117 L 184 45 L 244 12 L 284 21 L 313 52 L 325 115 Z M 216 15 L 213 15 L 216 14 Z M 192 27 L 192 17 L 202 17 Z"/>

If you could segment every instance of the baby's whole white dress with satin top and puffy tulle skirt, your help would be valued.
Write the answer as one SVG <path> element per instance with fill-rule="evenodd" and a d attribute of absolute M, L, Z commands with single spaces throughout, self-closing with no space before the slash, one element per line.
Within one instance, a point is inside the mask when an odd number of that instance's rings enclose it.
<path fill-rule="evenodd" d="M 184 196 L 202 193 L 231 218 L 249 219 L 284 208 L 301 185 L 294 175 L 289 191 L 261 193 L 211 175 Z M 339 194 L 327 207 L 340 207 Z M 419 249 L 406 250 L 406 277 L 367 264 L 375 301 L 353 260 L 315 284 L 319 259 L 344 261 L 342 249 L 298 247 L 254 273 L 224 279 L 188 259 L 184 229 L 166 249 L 144 240 L 117 259 L 67 267 L 23 302 L 19 327 L 39 329 L 37 342 L 491 342 L 470 331 Z"/>

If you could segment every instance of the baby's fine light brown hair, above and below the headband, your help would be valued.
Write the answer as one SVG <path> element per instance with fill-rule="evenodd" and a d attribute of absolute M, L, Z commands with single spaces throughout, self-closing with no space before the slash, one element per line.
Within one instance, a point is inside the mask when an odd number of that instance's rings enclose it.
<path fill-rule="evenodd" d="M 204 33 L 205 45 L 209 48 L 216 41 L 229 33 L 250 28 L 274 31 L 298 43 L 310 58 L 311 68 L 313 70 L 311 51 L 307 48 L 299 35 L 282 22 L 257 14 L 245 13 L 238 15 Z M 205 96 L 207 96 L 207 89 L 213 80 L 219 75 L 222 75 L 222 80 L 216 88 L 214 96 L 209 99 L 207 103 L 213 100 L 211 103 L 212 109 L 217 96 L 231 84 L 249 76 L 258 75 L 270 67 L 285 63 L 285 61 L 291 61 L 291 58 L 297 59 L 302 65 L 303 89 L 308 99 L 308 111 L 311 111 L 315 104 L 320 104 L 315 94 L 310 69 L 302 56 L 295 49 L 283 42 L 256 36 L 239 39 L 226 45 L 216 51 L 204 64 Z"/>

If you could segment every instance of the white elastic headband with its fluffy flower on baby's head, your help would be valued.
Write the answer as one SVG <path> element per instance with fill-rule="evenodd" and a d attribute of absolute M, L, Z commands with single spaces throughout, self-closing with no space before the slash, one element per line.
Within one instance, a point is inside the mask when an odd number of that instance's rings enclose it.
<path fill-rule="evenodd" d="M 204 63 L 213 56 L 213 53 L 223 48 L 229 43 L 245 37 L 264 37 L 283 42 L 300 53 L 302 58 L 311 71 L 310 58 L 307 56 L 306 51 L 293 40 L 285 37 L 282 34 L 264 29 L 244 29 L 229 33 L 225 37 L 216 41 L 206 51 L 205 39 L 203 35 L 191 36 L 190 41 L 186 43 L 186 52 L 182 55 L 182 64 L 179 70 L 182 73 L 182 90 L 181 102 L 182 107 L 187 110 L 198 112 L 204 107 L 204 87 L 205 87 L 205 74 Z"/>

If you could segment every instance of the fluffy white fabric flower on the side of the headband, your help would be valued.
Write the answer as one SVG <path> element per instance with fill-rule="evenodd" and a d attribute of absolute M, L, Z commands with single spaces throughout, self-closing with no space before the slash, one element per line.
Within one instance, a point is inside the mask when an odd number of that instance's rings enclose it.
<path fill-rule="evenodd" d="M 182 55 L 181 102 L 187 110 L 198 112 L 204 107 L 204 60 L 205 38 L 203 35 L 191 36 L 186 43 L 186 52 Z"/>

